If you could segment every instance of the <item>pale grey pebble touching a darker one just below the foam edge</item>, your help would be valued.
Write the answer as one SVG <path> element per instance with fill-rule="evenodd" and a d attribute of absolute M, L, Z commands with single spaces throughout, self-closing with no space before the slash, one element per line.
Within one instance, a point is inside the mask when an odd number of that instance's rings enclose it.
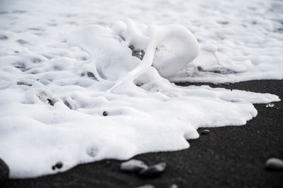
<path fill-rule="evenodd" d="M 139 172 L 141 170 L 149 168 L 144 162 L 141 160 L 128 160 L 124 163 L 121 163 L 120 170 L 125 172 Z"/>

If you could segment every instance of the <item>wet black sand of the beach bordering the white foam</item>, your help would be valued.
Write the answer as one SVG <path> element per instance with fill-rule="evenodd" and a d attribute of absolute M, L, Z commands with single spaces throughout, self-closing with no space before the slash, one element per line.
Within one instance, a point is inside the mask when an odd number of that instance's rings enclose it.
<path fill-rule="evenodd" d="M 283 99 L 283 81 L 209 85 L 272 93 Z M 244 126 L 209 128 L 210 134 L 189 141 L 190 148 L 187 150 L 135 156 L 135 159 L 144 160 L 149 165 L 161 161 L 167 163 L 168 168 L 163 175 L 154 179 L 142 179 L 120 172 L 120 161 L 103 160 L 79 165 L 57 175 L 7 180 L 2 187 L 107 188 L 139 187 L 144 184 L 156 187 L 170 187 L 172 184 L 178 187 L 283 187 L 282 171 L 265 170 L 268 158 L 283 158 L 283 102 L 274 104 L 275 107 L 255 105 L 258 116 Z"/>

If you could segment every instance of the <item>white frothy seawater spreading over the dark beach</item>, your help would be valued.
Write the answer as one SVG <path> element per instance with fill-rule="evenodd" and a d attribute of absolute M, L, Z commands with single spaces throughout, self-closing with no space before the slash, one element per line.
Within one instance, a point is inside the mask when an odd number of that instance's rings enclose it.
<path fill-rule="evenodd" d="M 257 114 L 252 103 L 279 100 L 241 90 L 182 88 L 159 74 L 171 81 L 282 79 L 282 1 L 0 4 L 0 158 L 11 178 L 188 148 L 185 139 L 197 138 L 198 127 L 246 124 Z M 112 25 L 115 20 L 125 23 Z M 199 41 L 200 54 L 185 53 L 197 47 L 185 28 Z M 127 44 L 146 50 L 144 59 L 132 57 Z M 168 53 L 180 57 L 176 69 L 163 66 L 174 66 Z M 99 81 L 82 76 L 86 71 Z M 52 170 L 59 161 L 63 167 Z"/>

